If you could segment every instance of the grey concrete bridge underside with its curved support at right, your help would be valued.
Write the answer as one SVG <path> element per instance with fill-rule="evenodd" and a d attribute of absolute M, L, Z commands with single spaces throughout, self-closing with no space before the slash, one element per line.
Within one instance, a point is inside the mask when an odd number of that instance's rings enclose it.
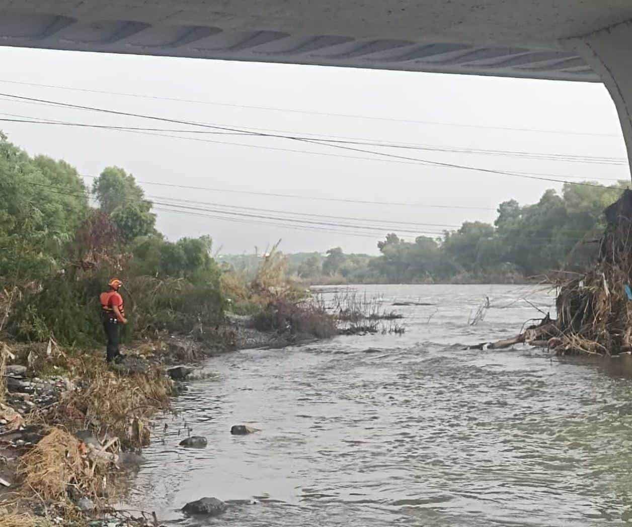
<path fill-rule="evenodd" d="M 604 82 L 632 159 L 631 21 L 630 0 L 0 0 L 0 45 Z"/>

